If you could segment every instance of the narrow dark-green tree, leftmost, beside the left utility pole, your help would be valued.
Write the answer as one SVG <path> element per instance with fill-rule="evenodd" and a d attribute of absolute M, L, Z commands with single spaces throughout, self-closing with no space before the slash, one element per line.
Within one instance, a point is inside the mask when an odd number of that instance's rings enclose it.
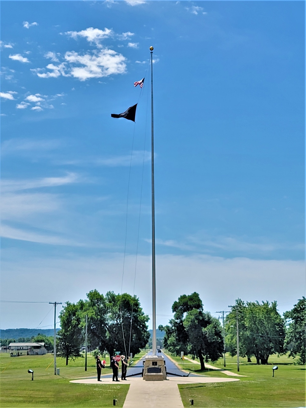
<path fill-rule="evenodd" d="M 74 303 L 66 302 L 66 306 L 60 312 L 60 326 L 58 331 L 57 354 L 66 357 L 66 366 L 68 359 L 83 357 L 80 349 L 84 342 L 84 333 L 81 325 L 82 311 Z"/>

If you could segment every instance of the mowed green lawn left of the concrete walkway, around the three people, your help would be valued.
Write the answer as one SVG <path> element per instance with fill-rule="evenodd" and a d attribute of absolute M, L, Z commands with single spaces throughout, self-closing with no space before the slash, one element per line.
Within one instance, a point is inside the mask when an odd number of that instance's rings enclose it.
<path fill-rule="evenodd" d="M 0 397 L 2 407 L 110 407 L 113 399 L 116 406 L 122 407 L 128 384 L 72 384 L 75 378 L 95 377 L 95 359 L 88 356 L 87 371 L 84 371 L 84 359 L 75 361 L 58 357 L 57 367 L 60 375 L 54 375 L 53 355 L 9 357 L 0 354 Z M 50 365 L 51 363 L 51 365 Z M 109 364 L 109 357 L 106 358 Z M 47 368 L 49 366 L 49 368 Z M 34 371 L 34 381 L 28 369 Z M 102 374 L 112 370 L 105 368 Z"/>

